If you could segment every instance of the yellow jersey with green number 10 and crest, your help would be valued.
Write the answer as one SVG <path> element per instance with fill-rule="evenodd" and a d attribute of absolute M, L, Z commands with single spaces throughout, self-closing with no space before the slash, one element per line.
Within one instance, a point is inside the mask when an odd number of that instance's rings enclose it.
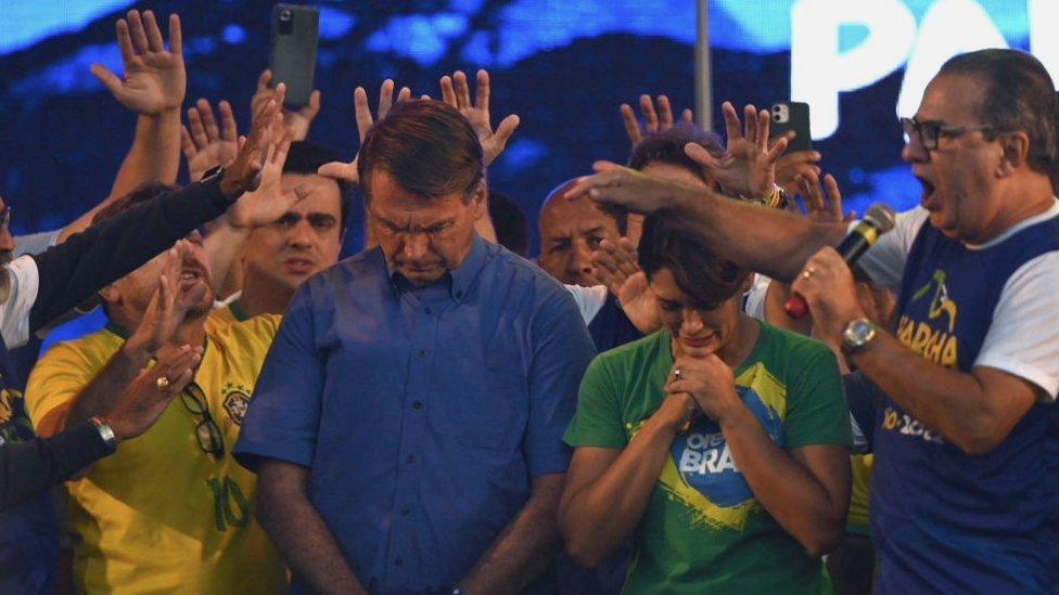
<path fill-rule="evenodd" d="M 86 593 L 280 593 L 286 570 L 254 518 L 257 478 L 231 456 L 279 316 L 207 329 L 194 383 L 225 453 L 200 447 L 178 396 L 142 436 L 67 481 L 74 575 Z M 73 401 L 125 342 L 120 328 L 53 347 L 26 387 L 34 425 Z"/>

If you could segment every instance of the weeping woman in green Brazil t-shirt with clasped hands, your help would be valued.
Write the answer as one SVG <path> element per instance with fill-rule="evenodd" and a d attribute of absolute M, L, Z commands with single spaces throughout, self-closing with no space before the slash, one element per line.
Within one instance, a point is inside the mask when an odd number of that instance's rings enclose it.
<path fill-rule="evenodd" d="M 626 593 L 820 593 L 850 501 L 834 355 L 742 312 L 749 273 L 656 218 L 640 268 L 663 329 L 599 355 L 560 507 L 592 566 L 634 538 Z"/>

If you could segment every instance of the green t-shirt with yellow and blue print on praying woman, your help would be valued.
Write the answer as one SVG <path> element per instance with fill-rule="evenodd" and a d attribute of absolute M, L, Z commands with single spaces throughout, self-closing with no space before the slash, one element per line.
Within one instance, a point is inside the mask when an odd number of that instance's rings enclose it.
<path fill-rule="evenodd" d="M 571 447 L 624 449 L 661 406 L 673 367 L 660 331 L 600 354 L 582 380 Z M 783 449 L 852 442 L 834 355 L 761 323 L 736 374 L 740 398 Z M 757 503 L 717 424 L 699 416 L 671 447 L 636 532 L 625 593 L 827 593 L 820 559 Z"/>

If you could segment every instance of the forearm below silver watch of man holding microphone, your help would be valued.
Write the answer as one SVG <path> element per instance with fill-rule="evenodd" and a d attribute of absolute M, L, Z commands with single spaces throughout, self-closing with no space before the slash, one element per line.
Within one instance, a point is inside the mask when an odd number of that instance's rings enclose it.
<path fill-rule="evenodd" d="M 926 430 L 968 453 L 992 450 L 1011 429 L 997 427 L 1008 403 L 987 398 L 978 378 L 928 361 L 889 333 L 878 332 L 851 361 Z"/>

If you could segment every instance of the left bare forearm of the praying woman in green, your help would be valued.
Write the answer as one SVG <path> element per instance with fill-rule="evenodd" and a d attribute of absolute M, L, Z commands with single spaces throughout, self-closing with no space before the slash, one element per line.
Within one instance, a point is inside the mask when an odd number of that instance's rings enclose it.
<path fill-rule="evenodd" d="M 676 431 L 655 414 L 599 479 L 567 499 L 559 523 L 575 561 L 596 566 L 633 534 L 675 438 Z"/>

